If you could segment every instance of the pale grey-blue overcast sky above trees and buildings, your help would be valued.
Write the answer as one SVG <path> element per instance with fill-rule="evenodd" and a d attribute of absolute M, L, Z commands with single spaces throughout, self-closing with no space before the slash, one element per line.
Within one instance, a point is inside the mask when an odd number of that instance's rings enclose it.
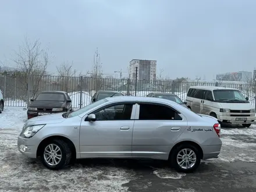
<path fill-rule="evenodd" d="M 97 47 L 104 73 L 127 71 L 131 59 L 157 60 L 172 79 L 256 67 L 255 0 L 0 2 L 0 61 L 10 66 L 27 35 L 49 47 L 51 71 L 73 61 L 86 73 Z"/>

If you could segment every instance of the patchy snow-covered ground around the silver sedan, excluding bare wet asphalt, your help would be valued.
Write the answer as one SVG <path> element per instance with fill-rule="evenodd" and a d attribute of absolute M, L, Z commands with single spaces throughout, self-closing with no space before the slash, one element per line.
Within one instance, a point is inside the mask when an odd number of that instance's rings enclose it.
<path fill-rule="evenodd" d="M 26 122 L 26 111 L 6 107 L 0 114 L 0 191 L 127 191 L 127 183 L 141 176 L 140 168 L 98 160 L 77 163 L 58 172 L 45 169 L 37 160 L 17 151 L 17 136 Z M 223 147 L 218 159 L 203 163 L 256 162 L 256 126 L 223 128 Z M 183 179 L 186 174 L 151 166 L 150 175 L 159 179 Z M 139 184 L 138 184 L 139 185 Z M 180 190 L 182 191 L 182 190 Z"/>

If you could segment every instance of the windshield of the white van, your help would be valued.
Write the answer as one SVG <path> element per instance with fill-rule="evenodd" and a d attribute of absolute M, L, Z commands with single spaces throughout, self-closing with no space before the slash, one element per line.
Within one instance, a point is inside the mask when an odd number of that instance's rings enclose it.
<path fill-rule="evenodd" d="M 217 102 L 249 102 L 239 90 L 214 90 Z"/>

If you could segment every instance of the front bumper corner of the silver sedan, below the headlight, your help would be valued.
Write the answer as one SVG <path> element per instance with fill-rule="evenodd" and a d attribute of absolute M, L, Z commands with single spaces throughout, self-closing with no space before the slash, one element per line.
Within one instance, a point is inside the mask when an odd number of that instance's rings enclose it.
<path fill-rule="evenodd" d="M 29 138 L 18 137 L 17 147 L 19 152 L 29 158 L 37 158 L 37 145 L 30 143 Z"/>

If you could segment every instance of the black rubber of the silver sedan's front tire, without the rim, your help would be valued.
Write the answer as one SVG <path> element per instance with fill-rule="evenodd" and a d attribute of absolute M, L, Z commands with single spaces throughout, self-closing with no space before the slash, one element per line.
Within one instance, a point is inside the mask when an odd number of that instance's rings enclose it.
<path fill-rule="evenodd" d="M 45 150 L 45 147 L 47 147 L 47 145 L 49 145 L 49 144 L 58 145 L 58 147 L 61 149 L 62 158 L 61 158 L 61 161 L 58 163 L 58 165 L 51 166 L 44 159 L 44 150 Z M 52 141 L 45 143 L 44 147 L 42 147 L 42 152 L 41 152 L 41 161 L 44 164 L 44 166 L 46 166 L 48 169 L 52 169 L 52 170 L 58 170 L 58 169 L 63 168 L 66 165 L 66 160 L 67 160 L 67 155 L 68 155 L 65 145 L 66 145 L 66 143 L 64 143 L 64 141 L 62 141 L 62 140 L 52 140 Z"/>

